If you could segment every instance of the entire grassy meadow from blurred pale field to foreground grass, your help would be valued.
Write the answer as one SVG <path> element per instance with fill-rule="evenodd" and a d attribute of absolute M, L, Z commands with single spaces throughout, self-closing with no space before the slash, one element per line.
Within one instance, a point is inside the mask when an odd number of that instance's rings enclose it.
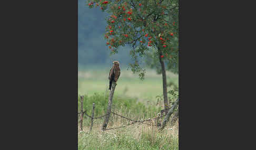
<path fill-rule="evenodd" d="M 78 70 L 78 95 L 85 95 L 83 108 L 88 114 L 91 114 L 92 103 L 95 102 L 95 117 L 105 114 L 107 108 L 109 71 L 110 67 Z M 121 68 L 121 76 L 117 81 L 113 98 L 113 112 L 141 120 L 155 117 L 163 109 L 162 103 L 155 105 L 156 96 L 162 94 L 162 76 L 156 74 L 154 70 L 146 71 L 145 79 L 141 81 L 131 70 Z M 172 81 L 179 86 L 178 75 L 166 73 L 168 82 Z M 168 87 L 168 90 L 170 89 L 171 87 Z M 78 98 L 78 111 L 80 107 L 80 98 Z M 78 132 L 78 149 L 179 149 L 179 121 L 173 125 L 169 122 L 161 132 L 155 126 L 140 123 L 102 132 L 103 120 L 104 117 L 94 120 L 92 131 L 89 132 L 91 119 L 84 117 L 83 132 Z M 160 119 L 160 122 L 162 121 L 163 118 Z M 127 123 L 131 122 L 111 115 L 107 128 L 119 127 Z M 78 123 L 78 131 L 80 131 L 79 126 L 80 123 Z"/>

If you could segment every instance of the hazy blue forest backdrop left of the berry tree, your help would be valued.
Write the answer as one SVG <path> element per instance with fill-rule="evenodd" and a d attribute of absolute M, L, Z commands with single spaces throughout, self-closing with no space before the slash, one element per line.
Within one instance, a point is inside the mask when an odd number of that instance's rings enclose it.
<path fill-rule="evenodd" d="M 111 67 L 114 60 L 119 60 L 120 66 L 128 66 L 132 62 L 130 46 L 121 47 L 119 53 L 110 56 L 104 39 L 106 16 L 100 7 L 90 9 L 86 0 L 78 0 L 78 70 Z"/>

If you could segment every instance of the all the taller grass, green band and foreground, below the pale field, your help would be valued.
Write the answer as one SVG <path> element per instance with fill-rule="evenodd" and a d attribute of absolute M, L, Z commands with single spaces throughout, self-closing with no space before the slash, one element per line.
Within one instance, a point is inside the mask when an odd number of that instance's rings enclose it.
<path fill-rule="evenodd" d="M 80 99 L 80 98 L 78 98 Z M 95 93 L 91 97 L 85 95 L 84 109 L 90 115 L 92 103 L 95 102 L 95 117 L 105 114 L 108 95 Z M 78 101 L 80 110 L 80 102 Z M 161 110 L 160 106 L 145 106 L 134 98 L 115 96 L 112 111 L 135 120 L 155 117 Z M 90 118 L 85 117 L 83 130 L 78 132 L 78 149 L 178 149 L 178 122 L 167 124 L 162 132 L 155 126 L 134 123 L 115 130 L 101 131 L 104 117 L 94 120 L 92 131 L 89 132 Z M 160 122 L 163 120 L 160 119 Z M 120 127 L 132 123 L 122 117 L 111 114 L 107 128 Z M 151 124 L 153 122 L 146 122 Z M 79 131 L 79 129 L 78 129 Z"/>

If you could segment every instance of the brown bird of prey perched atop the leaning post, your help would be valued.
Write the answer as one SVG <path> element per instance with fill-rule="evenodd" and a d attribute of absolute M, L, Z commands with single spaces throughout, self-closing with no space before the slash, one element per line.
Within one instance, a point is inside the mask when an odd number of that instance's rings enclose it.
<path fill-rule="evenodd" d="M 113 61 L 113 67 L 110 69 L 110 74 L 109 74 L 109 80 L 110 80 L 110 88 L 112 86 L 112 82 L 117 82 L 118 78 L 120 76 L 120 67 L 119 67 L 119 62 L 118 61 Z"/>

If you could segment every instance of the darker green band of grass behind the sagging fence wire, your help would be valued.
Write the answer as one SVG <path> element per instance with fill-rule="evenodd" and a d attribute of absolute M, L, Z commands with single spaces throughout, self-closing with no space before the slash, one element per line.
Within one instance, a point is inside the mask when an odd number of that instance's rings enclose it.
<path fill-rule="evenodd" d="M 92 104 L 95 103 L 94 116 L 104 115 L 107 109 L 107 103 L 109 101 L 109 94 L 94 93 L 91 96 L 84 95 L 83 110 L 86 110 L 88 114 L 91 114 Z M 78 97 L 78 110 L 81 108 L 80 97 Z M 160 110 L 163 109 L 162 105 L 155 105 L 155 103 L 149 103 L 147 106 L 138 101 L 137 98 L 131 98 L 124 95 L 114 95 L 112 102 L 112 111 L 119 111 L 122 114 L 129 114 L 131 112 L 133 116 L 138 118 L 139 116 L 151 117 L 155 116 Z"/>

